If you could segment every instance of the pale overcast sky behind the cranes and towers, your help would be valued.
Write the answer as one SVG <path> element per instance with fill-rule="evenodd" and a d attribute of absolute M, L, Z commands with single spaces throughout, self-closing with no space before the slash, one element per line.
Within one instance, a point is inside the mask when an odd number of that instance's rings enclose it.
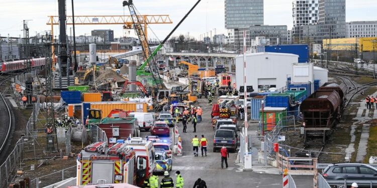
<path fill-rule="evenodd" d="M 58 15 L 57 0 L 0 0 L 0 35 L 12 37 L 22 35 L 23 20 L 29 22 L 30 36 L 36 32 L 50 30 L 46 25 L 47 16 Z M 197 0 L 134 0 L 134 5 L 142 15 L 170 15 L 173 24 L 152 25 L 152 31 L 158 39 L 163 38 L 173 29 L 175 24 L 191 9 Z M 128 9 L 123 9 L 122 0 L 74 0 L 75 16 L 79 15 L 129 15 Z M 346 21 L 377 20 L 376 0 L 346 0 Z M 71 15 L 71 1 L 67 0 L 67 15 Z M 264 0 L 264 24 L 288 25 L 292 28 L 292 0 Z M 69 27 L 67 34 L 69 35 Z M 187 17 L 173 36 L 179 34 L 199 38 L 214 29 L 216 33 L 225 33 L 224 0 L 202 0 L 198 7 Z M 76 26 L 76 36 L 90 35 L 93 29 L 112 29 L 115 37 L 129 36 L 122 25 L 92 25 Z M 54 35 L 58 34 L 58 26 L 54 28 Z M 134 36 L 134 31 L 130 33 Z M 149 38 L 156 38 L 149 32 Z"/>

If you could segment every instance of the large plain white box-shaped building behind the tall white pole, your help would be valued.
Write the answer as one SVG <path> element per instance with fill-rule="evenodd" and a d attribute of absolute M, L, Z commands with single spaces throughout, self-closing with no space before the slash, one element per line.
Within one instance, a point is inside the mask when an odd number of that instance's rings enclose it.
<path fill-rule="evenodd" d="M 263 85 L 280 89 L 286 87 L 287 78 L 292 75 L 292 64 L 298 63 L 299 56 L 283 53 L 246 54 L 246 85 L 254 91 Z M 243 86 L 243 55 L 236 57 L 236 85 Z"/>

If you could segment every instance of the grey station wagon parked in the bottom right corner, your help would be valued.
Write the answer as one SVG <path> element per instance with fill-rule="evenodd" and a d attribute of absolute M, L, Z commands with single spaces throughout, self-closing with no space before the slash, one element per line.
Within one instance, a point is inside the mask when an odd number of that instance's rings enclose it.
<path fill-rule="evenodd" d="M 377 168 L 362 163 L 330 164 L 323 170 L 326 179 L 373 179 L 377 180 Z"/>

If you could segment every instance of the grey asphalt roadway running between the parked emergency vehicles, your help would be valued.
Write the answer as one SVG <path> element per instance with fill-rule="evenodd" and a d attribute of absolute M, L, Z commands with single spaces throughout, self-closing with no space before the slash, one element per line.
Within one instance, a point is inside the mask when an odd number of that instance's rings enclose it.
<path fill-rule="evenodd" d="M 173 156 L 173 170 L 170 176 L 175 181 L 174 173 L 179 170 L 184 178 L 184 187 L 192 187 L 198 178 L 207 182 L 208 187 L 282 187 L 282 176 L 275 174 L 242 171 L 235 164 L 237 153 L 230 153 L 229 167 L 221 169 L 221 155 L 213 152 L 214 130 L 211 126 L 212 105 L 207 99 L 199 99 L 199 106 L 203 108 L 203 121 L 197 124 L 197 132 L 190 122 L 187 124 L 187 133 L 182 133 L 182 124 L 178 123 L 179 133 L 182 138 L 183 155 Z M 170 131 L 171 133 L 171 131 Z M 194 157 L 191 140 L 195 135 L 204 135 L 208 140 L 207 157 Z M 150 135 L 150 132 L 142 132 L 141 136 Z M 224 164 L 225 166 L 225 164 Z M 162 176 L 160 176 L 161 180 Z M 313 187 L 313 176 L 294 176 L 297 187 Z"/>

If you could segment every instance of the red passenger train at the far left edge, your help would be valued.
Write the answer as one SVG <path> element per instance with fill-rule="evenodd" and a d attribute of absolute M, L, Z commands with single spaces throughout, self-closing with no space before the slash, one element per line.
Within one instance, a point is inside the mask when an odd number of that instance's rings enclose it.
<path fill-rule="evenodd" d="M 32 67 L 40 67 L 46 65 L 46 58 L 31 59 Z M 26 69 L 26 60 L 17 60 L 0 63 L 0 72 L 13 72 Z"/>

